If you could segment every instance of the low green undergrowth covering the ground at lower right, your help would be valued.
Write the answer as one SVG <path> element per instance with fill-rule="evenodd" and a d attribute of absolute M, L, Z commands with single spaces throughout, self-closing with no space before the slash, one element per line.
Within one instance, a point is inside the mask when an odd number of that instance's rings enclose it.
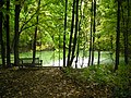
<path fill-rule="evenodd" d="M 92 65 L 85 69 L 66 69 L 66 75 L 85 86 L 93 85 L 94 89 L 95 86 L 99 89 L 106 87 L 110 97 L 131 97 L 131 65 L 119 65 L 119 70 L 116 72 L 114 71 L 114 65 Z"/>

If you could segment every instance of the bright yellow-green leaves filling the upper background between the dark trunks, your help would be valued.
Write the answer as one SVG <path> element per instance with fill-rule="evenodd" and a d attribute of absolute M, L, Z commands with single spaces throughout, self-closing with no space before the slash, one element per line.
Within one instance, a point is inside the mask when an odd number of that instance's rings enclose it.
<path fill-rule="evenodd" d="M 32 49 L 32 41 L 35 32 L 36 25 L 36 15 L 37 13 L 37 1 L 36 0 L 23 0 L 24 2 L 20 2 L 22 4 L 21 13 L 20 13 L 20 48 L 21 50 Z M 69 34 L 71 30 L 71 10 L 72 10 L 72 0 L 68 0 L 68 21 L 67 21 L 67 40 L 66 46 L 68 48 L 69 45 Z M 81 4 L 81 2 L 80 2 Z M 81 20 L 81 32 L 80 35 L 80 49 L 86 48 L 88 49 L 90 42 L 90 28 L 91 28 L 91 4 L 92 0 L 83 0 L 82 9 L 80 11 L 79 19 Z M 95 50 L 108 50 L 115 51 L 116 45 L 116 23 L 117 23 L 117 3 L 115 0 L 97 0 L 96 2 L 96 34 L 95 36 Z M 10 32 L 11 32 L 11 48 L 13 48 L 13 36 L 14 36 L 14 0 L 11 1 L 10 9 Z M 123 1 L 123 8 L 127 5 L 127 2 Z M 124 8 L 127 10 L 127 8 Z M 124 10 L 123 9 L 123 10 Z M 3 14 L 5 20 L 5 7 L 3 9 Z M 41 1 L 40 11 L 39 11 L 39 24 L 38 24 L 38 35 L 37 42 L 40 42 L 47 49 L 50 48 L 60 48 L 63 46 L 63 21 L 64 21 L 64 1 L 62 0 L 45 0 Z M 127 15 L 127 12 L 123 13 Z M 122 19 L 122 17 L 121 17 Z M 124 17 L 127 20 L 127 16 Z M 122 25 L 122 22 L 121 22 Z M 130 26 L 129 26 L 130 27 Z M 126 28 L 126 26 L 124 26 Z M 5 32 L 5 29 L 4 29 Z M 5 41 L 5 33 L 3 33 L 4 41 Z M 60 35 L 60 38 L 59 38 Z M 122 36 L 122 34 L 121 34 Z M 110 38 L 112 37 L 112 39 Z M 111 39 L 111 41 L 110 41 Z M 121 50 L 123 50 L 123 37 L 120 39 L 121 41 Z M 112 42 L 112 49 L 111 49 Z M 130 41 L 129 41 L 130 42 Z M 44 50 L 44 49 L 43 49 Z"/>

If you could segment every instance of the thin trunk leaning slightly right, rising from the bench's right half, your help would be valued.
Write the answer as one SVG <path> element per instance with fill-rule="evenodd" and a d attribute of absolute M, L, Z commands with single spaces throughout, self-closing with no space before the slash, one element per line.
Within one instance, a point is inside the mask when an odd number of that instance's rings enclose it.
<path fill-rule="evenodd" d="M 35 65 L 35 57 L 36 57 L 36 38 L 37 38 L 37 30 L 38 30 L 38 15 L 40 9 L 40 0 L 38 1 L 37 7 L 37 15 L 36 15 L 36 27 L 35 27 L 35 35 L 34 35 L 34 44 L 33 44 L 33 65 Z"/>

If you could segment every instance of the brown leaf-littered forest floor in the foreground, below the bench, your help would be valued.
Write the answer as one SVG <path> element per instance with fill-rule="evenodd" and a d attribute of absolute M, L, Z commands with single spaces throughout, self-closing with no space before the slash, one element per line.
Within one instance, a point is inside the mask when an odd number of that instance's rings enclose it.
<path fill-rule="evenodd" d="M 0 70 L 1 98 L 107 98 L 107 91 L 79 85 L 58 68 Z"/>

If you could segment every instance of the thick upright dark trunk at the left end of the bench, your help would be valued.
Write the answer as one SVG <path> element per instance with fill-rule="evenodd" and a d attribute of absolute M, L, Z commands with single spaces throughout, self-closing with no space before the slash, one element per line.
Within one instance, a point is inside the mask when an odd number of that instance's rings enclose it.
<path fill-rule="evenodd" d="M 15 0 L 19 2 L 19 0 Z M 14 64 L 19 65 L 19 19 L 20 19 L 21 4 L 15 4 L 15 20 L 14 20 Z"/>

